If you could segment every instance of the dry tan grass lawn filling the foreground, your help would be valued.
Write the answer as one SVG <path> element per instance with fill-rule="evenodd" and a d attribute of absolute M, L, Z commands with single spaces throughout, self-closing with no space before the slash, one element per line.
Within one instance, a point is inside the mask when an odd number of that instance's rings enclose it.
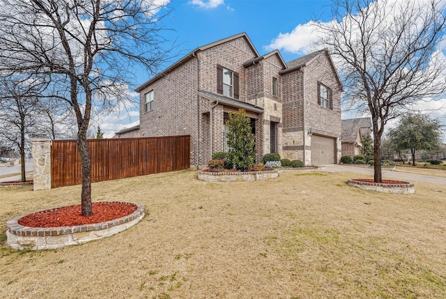
<path fill-rule="evenodd" d="M 446 186 L 415 195 L 349 173 L 207 183 L 193 171 L 93 184 L 144 204 L 120 234 L 59 250 L 6 247 L 6 221 L 79 202 L 80 187 L 0 189 L 2 298 L 446 298 Z"/>

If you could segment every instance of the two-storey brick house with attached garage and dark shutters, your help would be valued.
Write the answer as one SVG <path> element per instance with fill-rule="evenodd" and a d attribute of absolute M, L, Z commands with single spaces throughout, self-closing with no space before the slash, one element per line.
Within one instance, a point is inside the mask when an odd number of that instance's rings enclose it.
<path fill-rule="evenodd" d="M 225 122 L 239 108 L 251 118 L 257 162 L 270 152 L 306 165 L 341 156 L 342 86 L 325 50 L 285 63 L 240 33 L 194 49 L 136 91 L 139 136 L 190 135 L 191 165 L 228 150 Z"/>

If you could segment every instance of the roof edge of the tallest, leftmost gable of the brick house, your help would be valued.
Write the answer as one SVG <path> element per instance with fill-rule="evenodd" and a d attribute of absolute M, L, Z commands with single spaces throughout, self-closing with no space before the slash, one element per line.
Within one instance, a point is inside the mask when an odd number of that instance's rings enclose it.
<path fill-rule="evenodd" d="M 247 44 L 249 45 L 249 47 L 252 49 L 252 51 L 254 52 L 256 57 L 259 57 L 259 52 L 256 50 L 256 48 L 254 47 L 254 45 L 252 44 L 251 40 L 249 40 L 248 35 L 243 32 L 243 33 L 238 33 L 236 35 L 232 35 L 229 38 L 224 38 L 222 40 L 217 40 L 216 42 L 211 42 L 208 45 L 204 45 L 201 47 L 197 47 L 194 50 L 190 51 L 188 54 L 186 54 L 185 56 L 183 56 L 183 58 L 181 58 L 180 60 L 176 61 L 176 63 L 174 63 L 173 65 L 170 65 L 169 67 L 167 67 L 167 69 L 163 70 L 162 72 L 158 73 L 156 76 L 153 76 L 152 79 L 149 79 L 148 81 L 146 81 L 145 83 L 142 83 L 141 86 L 137 87 L 134 91 L 136 92 L 140 92 L 141 90 L 143 90 L 144 88 L 146 88 L 146 86 L 149 86 L 151 83 L 153 83 L 154 81 L 156 81 L 157 79 L 160 79 L 162 76 L 164 76 L 164 74 L 169 73 L 173 70 L 175 70 L 177 67 L 179 67 L 180 65 L 182 65 L 183 63 L 185 63 L 187 60 L 189 60 L 192 57 L 196 56 L 196 53 L 198 51 L 204 51 L 206 49 L 210 49 L 212 47 L 218 46 L 218 45 L 222 45 L 225 42 L 229 42 L 231 40 L 236 40 L 237 38 L 245 38 L 245 40 L 247 41 Z"/>

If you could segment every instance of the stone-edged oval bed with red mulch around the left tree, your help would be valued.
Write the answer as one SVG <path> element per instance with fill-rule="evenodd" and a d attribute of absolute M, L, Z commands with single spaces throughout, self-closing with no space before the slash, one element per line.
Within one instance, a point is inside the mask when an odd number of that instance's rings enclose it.
<path fill-rule="evenodd" d="M 80 204 L 45 209 L 9 220 L 7 243 L 19 250 L 78 245 L 118 234 L 143 217 L 144 207 L 132 202 L 95 202 L 91 217 L 82 216 Z"/>

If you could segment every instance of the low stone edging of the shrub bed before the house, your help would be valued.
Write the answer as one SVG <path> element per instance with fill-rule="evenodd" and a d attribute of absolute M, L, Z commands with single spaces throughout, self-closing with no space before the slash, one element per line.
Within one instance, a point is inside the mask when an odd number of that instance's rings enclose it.
<path fill-rule="evenodd" d="M 277 170 L 251 172 L 198 172 L 198 179 L 201 181 L 260 181 L 262 179 L 275 179 L 278 176 L 279 173 Z"/>

